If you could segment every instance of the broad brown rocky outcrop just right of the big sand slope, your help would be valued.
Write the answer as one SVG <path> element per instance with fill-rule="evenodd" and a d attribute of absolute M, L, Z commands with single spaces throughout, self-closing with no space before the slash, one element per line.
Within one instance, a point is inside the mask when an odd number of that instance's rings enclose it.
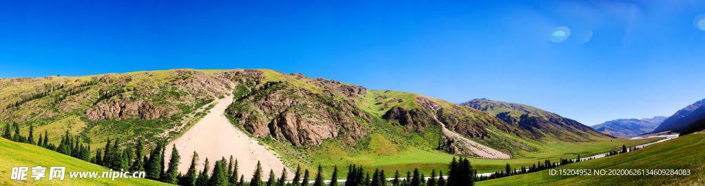
<path fill-rule="evenodd" d="M 286 82 L 260 84 L 228 108 L 228 115 L 259 138 L 271 135 L 292 145 L 319 145 L 340 137 L 350 145 L 369 133 L 369 117 L 347 99 L 312 93 Z"/>

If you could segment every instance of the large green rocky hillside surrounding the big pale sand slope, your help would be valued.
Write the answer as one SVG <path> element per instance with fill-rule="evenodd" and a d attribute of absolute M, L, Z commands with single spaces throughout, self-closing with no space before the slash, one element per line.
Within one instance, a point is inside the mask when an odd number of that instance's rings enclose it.
<path fill-rule="evenodd" d="M 409 171 L 446 167 L 453 155 L 476 157 L 441 132 L 450 131 L 512 155 L 516 164 L 558 159 L 642 141 L 604 138 L 579 128 L 535 131 L 472 107 L 415 93 L 369 90 L 343 82 L 269 69 L 171 69 L 86 77 L 0 79 L 0 126 L 35 126 L 56 144 L 68 130 L 91 150 L 120 138 L 123 147 L 173 140 L 202 116 L 198 108 L 234 95 L 226 117 L 278 152 L 289 166 L 362 164 Z M 490 112 L 491 113 L 491 112 Z M 537 112 L 550 117 L 550 112 Z M 550 118 L 548 118 L 550 119 Z M 560 133 L 571 140 L 564 139 Z M 580 139 L 580 140 L 572 140 Z M 580 142 L 575 142 L 580 141 Z M 579 146 L 581 148 L 575 148 Z M 477 159 L 481 171 L 503 161 Z M 393 171 L 393 170 L 391 170 Z"/>

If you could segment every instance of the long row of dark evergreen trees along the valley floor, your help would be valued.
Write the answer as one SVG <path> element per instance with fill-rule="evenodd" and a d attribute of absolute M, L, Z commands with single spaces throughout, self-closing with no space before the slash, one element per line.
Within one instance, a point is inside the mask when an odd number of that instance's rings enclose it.
<path fill-rule="evenodd" d="M 14 129 L 14 132 L 12 132 L 11 128 Z M 560 159 L 558 162 L 551 162 L 546 159 L 543 164 L 541 161 L 538 161 L 537 164 L 533 164 L 532 166 L 521 166 L 518 170 L 511 168 L 510 164 L 506 164 L 504 171 L 497 171 L 488 176 L 477 176 L 477 170 L 472 168 L 469 159 L 462 157 L 455 159 L 455 157 L 453 157 L 453 160 L 448 164 L 447 176 L 443 175 L 443 171 L 439 171 L 438 175 L 436 175 L 436 170 L 432 170 L 430 177 L 426 178 L 424 173 L 419 173 L 418 168 L 415 168 L 413 172 L 407 171 L 405 177 L 401 177 L 402 175 L 400 175 L 399 171 L 396 171 L 391 180 L 386 179 L 386 173 L 383 169 L 375 168 L 372 175 L 370 175 L 370 172 L 364 171 L 362 166 L 351 164 L 348 166 L 348 175 L 346 175 L 345 182 L 342 184 L 338 184 L 337 166 L 333 167 L 333 173 L 329 178 L 331 181 L 325 183 L 324 180 L 326 180 L 326 178 L 324 178 L 322 174 L 323 171 L 320 164 L 317 168 L 316 175 L 314 175 L 314 180 L 309 180 L 312 173 L 308 169 L 301 168 L 301 166 L 296 168 L 291 182 L 286 180 L 286 168 L 282 170 L 279 177 L 274 174 L 273 170 L 270 170 L 269 179 L 262 180 L 262 178 L 264 178 L 262 164 L 257 161 L 257 166 L 255 167 L 255 172 L 252 173 L 251 179 L 245 180 L 245 175 L 238 173 L 238 160 L 233 159 L 233 156 L 231 156 L 230 159 L 222 157 L 216 160 L 213 168 L 209 167 L 211 164 L 209 164 L 209 159 L 206 158 L 204 168 L 201 171 L 197 171 L 196 167 L 200 159 L 197 152 L 193 152 L 188 171 L 185 174 L 181 174 L 178 171 L 181 157 L 178 150 L 176 150 L 176 145 L 173 146 L 171 156 L 168 160 L 165 159 L 164 156 L 166 153 L 164 142 L 157 143 L 157 145 L 149 151 L 149 154 L 146 154 L 144 151 L 145 147 L 143 147 L 141 141 L 137 141 L 134 146 L 126 145 L 123 147 L 123 145 L 120 145 L 121 142 L 118 139 L 108 139 L 105 147 L 95 150 L 94 154 L 90 154 L 90 145 L 88 145 L 90 144 L 90 140 L 84 145 L 79 135 L 71 135 L 66 131 L 66 133 L 61 136 L 61 142 L 59 142 L 58 145 L 54 145 L 49 143 L 49 134 L 47 131 L 44 131 L 44 135 L 39 134 L 39 138 L 35 142 L 33 135 L 34 127 L 30 126 L 29 130 L 29 133 L 25 137 L 20 134 L 18 124 L 13 124 L 13 126 L 6 124 L 2 137 L 16 142 L 25 142 L 44 147 L 77 159 L 89 161 L 93 164 L 112 168 L 113 170 L 125 170 L 130 172 L 145 171 L 147 179 L 178 185 L 460 186 L 474 185 L 474 182 L 482 180 L 543 171 L 548 168 L 555 168 L 556 166 L 581 161 L 580 154 L 578 154 L 577 159 Z M 637 148 L 631 147 L 630 151 L 631 150 L 637 150 Z M 610 152 L 608 155 L 624 152 L 628 152 L 625 145 L 623 145 L 622 150 Z"/>

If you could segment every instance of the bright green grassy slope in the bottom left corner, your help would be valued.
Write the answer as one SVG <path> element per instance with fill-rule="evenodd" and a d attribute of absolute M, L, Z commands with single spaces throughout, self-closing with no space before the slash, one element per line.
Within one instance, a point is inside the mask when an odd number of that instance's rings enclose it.
<path fill-rule="evenodd" d="M 34 178 L 30 177 L 27 177 L 27 180 L 10 180 L 12 168 L 18 166 L 65 166 L 66 176 L 64 180 L 48 178 L 33 180 Z M 68 178 L 68 171 L 109 171 L 109 169 L 35 145 L 0 138 L 0 175 L 3 175 L 0 176 L 0 185 L 168 185 L 147 179 L 117 178 L 114 181 L 102 178 L 71 179 Z M 31 170 L 28 175 L 31 175 Z"/>

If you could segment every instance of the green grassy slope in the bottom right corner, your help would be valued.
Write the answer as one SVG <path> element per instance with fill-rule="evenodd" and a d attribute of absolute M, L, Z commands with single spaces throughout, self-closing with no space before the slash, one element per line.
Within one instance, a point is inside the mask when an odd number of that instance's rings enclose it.
<path fill-rule="evenodd" d="M 548 170 L 477 182 L 476 185 L 703 185 L 705 134 L 684 135 L 635 152 L 555 169 L 689 169 L 691 175 L 549 175 Z"/>

